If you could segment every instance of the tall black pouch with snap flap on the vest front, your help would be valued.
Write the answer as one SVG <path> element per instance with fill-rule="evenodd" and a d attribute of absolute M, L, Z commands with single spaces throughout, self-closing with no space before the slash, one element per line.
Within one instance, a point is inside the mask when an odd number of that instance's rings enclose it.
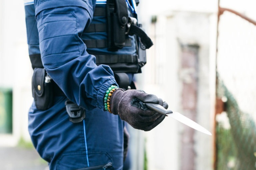
<path fill-rule="evenodd" d="M 108 50 L 116 51 L 124 47 L 128 9 L 125 0 L 107 0 Z"/>

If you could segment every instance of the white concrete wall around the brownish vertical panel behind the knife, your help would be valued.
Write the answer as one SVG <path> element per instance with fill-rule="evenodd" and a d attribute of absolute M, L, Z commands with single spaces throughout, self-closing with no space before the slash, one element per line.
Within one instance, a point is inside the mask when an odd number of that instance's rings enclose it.
<path fill-rule="evenodd" d="M 157 94 L 173 111 L 181 110 L 180 44 L 198 44 L 197 122 L 213 131 L 215 103 L 215 55 L 217 1 L 151 1 L 141 0 L 139 21 L 153 39 L 147 51 L 147 64 L 140 75 L 140 87 Z M 143 7 L 143 8 L 142 8 Z M 157 16 L 152 25 L 151 17 Z M 166 118 L 150 132 L 145 132 L 149 170 L 178 170 L 180 157 L 180 123 Z M 196 132 L 195 169 L 213 169 L 213 138 Z"/>

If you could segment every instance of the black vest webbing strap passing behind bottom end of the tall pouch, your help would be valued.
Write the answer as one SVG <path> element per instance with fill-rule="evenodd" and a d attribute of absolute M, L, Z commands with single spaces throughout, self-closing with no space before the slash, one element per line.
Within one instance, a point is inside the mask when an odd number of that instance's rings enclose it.
<path fill-rule="evenodd" d="M 108 47 L 107 40 L 83 40 L 87 48 L 106 48 Z M 132 46 L 131 39 L 125 39 L 124 46 Z"/>

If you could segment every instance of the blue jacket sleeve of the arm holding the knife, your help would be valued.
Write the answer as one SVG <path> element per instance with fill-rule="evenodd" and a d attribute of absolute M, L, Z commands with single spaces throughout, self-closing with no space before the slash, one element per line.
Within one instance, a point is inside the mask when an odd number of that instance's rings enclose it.
<path fill-rule="evenodd" d="M 57 1 L 49 0 L 42 7 L 35 0 L 41 59 L 71 101 L 85 109 L 103 109 L 105 91 L 116 81 L 109 66 L 95 64 L 95 56 L 87 53 L 80 39 L 91 22 L 93 2 L 77 1 L 78 5 L 56 7 Z"/>

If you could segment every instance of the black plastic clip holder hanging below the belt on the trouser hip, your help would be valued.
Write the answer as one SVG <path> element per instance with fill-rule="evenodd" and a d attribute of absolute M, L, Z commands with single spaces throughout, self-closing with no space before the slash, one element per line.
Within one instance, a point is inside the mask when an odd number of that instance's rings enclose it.
<path fill-rule="evenodd" d="M 67 100 L 65 102 L 66 111 L 69 116 L 69 121 L 73 123 L 82 122 L 85 118 L 85 110 L 79 107 L 77 104 Z"/>

